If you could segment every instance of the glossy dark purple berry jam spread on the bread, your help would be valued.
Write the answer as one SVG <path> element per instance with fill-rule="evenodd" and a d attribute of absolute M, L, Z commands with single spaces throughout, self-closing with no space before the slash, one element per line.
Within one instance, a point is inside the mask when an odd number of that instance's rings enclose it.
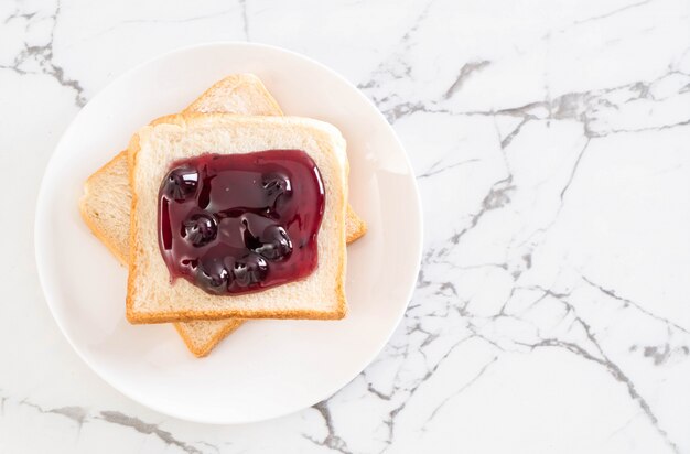
<path fill-rule="evenodd" d="M 203 154 L 173 163 L 159 191 L 159 246 L 172 279 L 212 294 L 303 279 L 317 262 L 321 174 L 300 150 Z"/>

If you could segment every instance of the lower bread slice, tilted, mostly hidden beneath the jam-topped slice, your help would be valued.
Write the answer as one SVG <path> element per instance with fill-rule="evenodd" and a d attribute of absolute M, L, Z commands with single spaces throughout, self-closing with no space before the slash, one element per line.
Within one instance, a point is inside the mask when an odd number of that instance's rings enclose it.
<path fill-rule="evenodd" d="M 278 102 L 261 80 L 252 74 L 235 74 L 223 78 L 192 102 L 184 112 L 282 115 Z M 128 266 L 131 191 L 126 151 L 117 154 L 87 180 L 79 207 L 84 220 L 94 235 L 122 264 Z M 348 244 L 366 233 L 366 224 L 349 205 L 345 227 Z M 229 318 L 180 322 L 174 325 L 188 349 L 202 357 L 238 328 L 241 321 Z"/>

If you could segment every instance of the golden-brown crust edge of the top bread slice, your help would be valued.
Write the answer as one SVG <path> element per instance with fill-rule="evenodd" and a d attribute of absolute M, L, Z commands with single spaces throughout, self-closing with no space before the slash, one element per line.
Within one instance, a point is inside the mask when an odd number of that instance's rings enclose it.
<path fill-rule="evenodd" d="M 162 118 L 159 118 L 157 120 L 154 120 L 151 125 L 151 127 L 144 127 L 145 128 L 154 128 L 155 126 L 160 126 L 160 125 L 173 125 L 173 126 L 180 126 L 180 127 L 186 127 L 187 123 L 194 123 L 197 120 L 203 122 L 203 121 L 224 121 L 227 119 L 230 119 L 236 122 L 235 126 L 238 127 L 242 127 L 246 125 L 258 125 L 259 122 L 261 122 L 261 125 L 263 125 L 265 122 L 269 121 L 269 118 L 263 118 L 263 119 L 259 119 L 259 117 L 244 117 L 244 116 L 229 116 L 229 115 L 224 115 L 224 114 L 182 114 L 182 115 L 173 115 L 173 116 L 165 116 Z M 280 125 L 282 122 L 282 120 L 290 120 L 287 117 L 280 118 L 281 121 L 278 120 L 278 118 L 270 118 L 270 121 L 276 122 L 276 125 Z M 315 122 L 314 120 L 304 120 L 304 119 L 293 119 L 293 122 L 298 121 L 312 121 L 312 125 L 314 123 L 321 123 L 321 122 Z M 325 123 L 322 123 L 325 125 Z M 333 128 L 331 126 L 328 126 L 330 128 Z M 335 128 L 333 128 L 333 130 L 335 130 Z M 337 131 L 337 130 L 335 130 Z M 323 130 L 317 130 L 312 128 L 312 130 L 310 131 L 312 134 L 314 134 L 314 138 L 317 142 L 323 143 L 325 141 L 331 141 L 333 140 L 332 136 L 328 136 L 328 133 L 326 133 Z M 335 225 L 336 226 L 341 226 L 338 228 L 338 234 L 339 234 L 339 238 L 336 239 L 337 241 L 337 249 L 341 251 L 337 256 L 337 258 L 335 258 L 337 260 L 337 264 L 336 264 L 336 269 L 337 272 L 335 273 L 335 275 L 337 277 L 337 281 L 336 281 L 336 288 L 335 288 L 335 298 L 336 298 L 336 304 L 335 307 L 333 309 L 328 309 L 327 311 L 320 311 L 320 310 L 313 310 L 313 309 L 284 309 L 284 310 L 280 310 L 280 311 L 272 311 L 272 310 L 267 310 L 267 309 L 247 309 L 247 307 L 223 307 L 223 309 L 214 309 L 213 311 L 211 310 L 204 310 L 204 309 L 194 309 L 194 310 L 190 310 L 190 309 L 180 309 L 180 310 L 173 310 L 173 311 L 159 311 L 159 312 L 143 312 L 143 311 L 138 311 L 136 307 L 136 302 L 137 299 L 139 298 L 136 289 L 137 289 L 137 281 L 142 279 L 142 271 L 145 270 L 139 270 L 139 260 L 138 260 L 138 255 L 141 253 L 141 251 L 143 250 L 143 248 L 145 247 L 145 245 L 141 245 L 139 241 L 139 231 L 140 231 L 140 227 L 139 227 L 139 198 L 140 198 L 140 194 L 138 194 L 137 188 L 139 187 L 137 185 L 137 174 L 138 174 L 138 167 L 140 165 L 140 160 L 139 160 L 139 154 L 141 151 L 141 143 L 140 143 L 140 132 L 137 132 L 132 139 L 130 140 L 129 147 L 128 147 L 128 153 L 129 153 L 129 162 L 130 162 L 130 186 L 132 187 L 132 208 L 131 208 L 131 216 L 130 216 L 130 264 L 129 264 L 129 277 L 128 277 L 128 285 L 127 285 L 127 320 L 132 323 L 132 324 L 149 324 L 149 323 L 169 323 L 169 322 L 188 322 L 188 321 L 200 321 L 200 320 L 207 320 L 207 321 L 214 321 L 214 320 L 222 320 L 222 318 L 309 318 L 309 320 L 339 320 L 343 318 L 346 313 L 347 313 L 347 303 L 346 303 L 346 298 L 345 298 L 345 267 L 346 267 L 346 235 L 345 235 L 345 216 L 346 216 L 346 212 L 347 212 L 347 201 L 346 201 L 346 194 L 347 194 L 347 179 L 343 179 L 342 182 L 339 182 L 342 184 L 342 191 L 336 192 L 334 195 L 336 197 L 335 201 L 331 201 L 327 203 L 331 203 L 333 208 L 333 213 L 335 216 Z M 319 138 L 319 134 L 323 134 L 321 138 Z M 339 134 L 338 134 L 339 136 Z M 321 139 L 321 140 L 317 140 Z M 341 137 L 342 140 L 342 137 Z M 343 145 L 344 147 L 344 145 Z M 335 150 L 334 150 L 335 152 Z M 333 158 L 336 159 L 336 158 Z M 345 165 L 345 162 L 342 162 L 338 165 Z M 332 198 L 332 197 L 331 197 Z M 158 245 L 157 245 L 158 246 Z M 323 258 L 322 258 L 323 260 Z M 309 278 L 306 278 L 309 279 Z M 281 287 L 287 287 L 287 285 L 291 285 L 293 284 L 293 282 L 283 284 Z M 215 298 L 224 298 L 224 296 L 215 296 Z"/>

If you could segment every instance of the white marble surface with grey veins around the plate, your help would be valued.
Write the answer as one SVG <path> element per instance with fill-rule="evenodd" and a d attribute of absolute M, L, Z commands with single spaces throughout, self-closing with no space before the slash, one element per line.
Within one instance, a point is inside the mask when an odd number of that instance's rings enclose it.
<path fill-rule="evenodd" d="M 0 2 L 0 452 L 690 453 L 690 3 L 287 3 Z M 241 426 L 168 418 L 91 372 L 44 302 L 30 227 L 79 108 L 215 40 L 357 84 L 411 156 L 427 230 L 375 363 Z"/>

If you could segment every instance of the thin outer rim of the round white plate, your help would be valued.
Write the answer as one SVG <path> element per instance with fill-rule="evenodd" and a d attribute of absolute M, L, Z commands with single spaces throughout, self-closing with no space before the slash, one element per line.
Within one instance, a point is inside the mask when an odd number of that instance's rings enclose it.
<path fill-rule="evenodd" d="M 51 270 L 48 269 L 50 267 L 47 267 L 47 260 L 44 258 L 44 245 L 45 245 L 45 234 L 42 233 L 43 228 L 41 227 L 42 225 L 44 225 L 44 218 L 47 214 L 47 209 L 45 208 L 46 205 L 46 198 L 48 197 L 47 195 L 47 186 L 46 186 L 46 180 L 47 176 L 54 172 L 54 167 L 57 165 L 57 159 L 56 159 L 56 151 L 62 147 L 63 141 L 65 140 L 66 137 L 68 137 L 72 132 L 72 130 L 75 128 L 75 125 L 77 123 L 77 120 L 85 115 L 88 115 L 89 110 L 90 110 L 90 106 L 94 105 L 94 101 L 96 101 L 97 99 L 99 99 L 101 97 L 101 95 L 107 91 L 112 85 L 120 83 L 121 79 L 127 78 L 127 77 L 131 77 L 132 74 L 139 72 L 141 68 L 155 64 L 159 61 L 163 61 L 166 60 L 171 56 L 173 56 L 174 54 L 179 54 L 179 53 L 185 53 L 185 52 L 194 52 L 197 50 L 202 50 L 202 48 L 213 48 L 213 47 L 249 47 L 249 48 L 257 48 L 257 50 L 269 50 L 269 51 L 273 51 L 273 52 L 279 52 L 279 53 L 284 53 L 290 55 L 291 57 L 298 58 L 298 60 L 302 60 L 305 61 L 312 65 L 315 65 L 317 67 L 320 67 L 320 69 L 326 72 L 330 76 L 338 79 L 341 83 L 344 83 L 345 85 L 349 86 L 351 88 L 354 89 L 354 93 L 356 93 L 356 96 L 358 96 L 360 99 L 365 100 L 365 104 L 367 105 L 367 107 L 373 110 L 375 112 L 376 116 L 378 116 L 378 118 L 380 120 L 382 120 L 382 122 L 386 125 L 386 128 L 388 130 L 388 132 L 390 133 L 390 136 L 393 138 L 395 143 L 400 148 L 400 150 L 402 150 L 402 159 L 403 162 L 409 171 L 409 174 L 411 175 L 411 182 L 412 182 L 412 188 L 413 188 L 413 199 L 412 201 L 408 201 L 408 204 L 412 204 L 414 207 L 414 212 L 418 214 L 418 216 L 416 216 L 413 219 L 410 219 L 410 223 L 414 224 L 414 228 L 419 233 L 418 234 L 418 241 L 414 245 L 409 245 L 410 248 L 413 248 L 413 259 L 414 259 L 414 275 L 419 275 L 419 271 L 421 269 L 421 258 L 422 258 L 422 251 L 423 251 L 423 244 L 424 244 L 424 230 L 423 230 L 423 210 L 422 210 L 422 203 L 421 203 L 421 195 L 419 192 L 419 185 L 417 182 L 417 179 L 414 177 L 414 171 L 413 167 L 411 165 L 410 162 L 410 156 L 407 153 L 405 147 L 402 145 L 402 142 L 400 141 L 400 138 L 398 137 L 398 134 L 396 133 L 395 129 L 392 128 L 392 126 L 388 122 L 388 120 L 386 119 L 386 117 L 380 112 L 380 110 L 376 107 L 376 105 L 367 97 L 364 95 L 364 93 L 362 93 L 362 90 L 359 88 L 357 88 L 353 83 L 351 83 L 348 79 L 346 79 L 343 75 L 341 75 L 339 73 L 337 73 L 335 69 L 331 68 L 330 66 L 310 57 L 306 56 L 304 54 L 284 48 L 284 47 L 280 47 L 280 46 L 276 46 L 276 45 L 270 45 L 270 44 L 261 44 L 261 43 L 250 43 L 250 42 L 242 42 L 242 41 L 209 41 L 209 42 L 203 42 L 203 43 L 197 43 L 197 44 L 192 44 L 192 45 L 186 45 L 186 46 L 181 46 L 181 47 L 176 47 L 173 48 L 171 51 L 158 54 L 151 58 L 148 58 L 134 66 L 132 66 L 131 68 L 125 71 L 123 73 L 121 73 L 120 75 L 116 76 L 112 80 L 110 80 L 108 84 L 106 84 L 104 87 L 101 87 L 96 95 L 94 95 L 94 97 L 91 97 L 88 102 L 74 116 L 74 118 L 71 120 L 69 126 L 64 130 L 64 132 L 61 134 L 60 140 L 56 142 L 56 144 L 53 147 L 52 151 L 51 151 L 51 155 L 50 159 L 47 161 L 47 164 L 45 165 L 45 169 L 43 171 L 43 174 L 41 176 L 41 182 L 40 182 L 40 186 L 39 186 L 39 194 L 36 197 L 36 205 L 35 205 L 35 210 L 34 210 L 34 228 L 33 228 L 33 235 L 34 235 L 34 260 L 36 263 L 36 271 L 39 274 L 39 282 L 41 285 L 41 290 L 43 293 L 43 296 L 45 299 L 45 303 L 48 307 L 48 311 L 51 312 L 51 315 L 53 317 L 53 320 L 55 321 L 55 323 L 57 324 L 60 331 L 62 332 L 63 336 L 66 338 L 67 343 L 72 346 L 73 350 L 77 354 L 77 356 L 82 359 L 82 361 L 84 361 L 88 368 L 95 372 L 95 375 L 101 379 L 103 381 L 105 381 L 106 383 L 108 383 L 111 388 L 114 388 L 115 390 L 117 390 L 120 394 L 127 397 L 128 399 L 130 399 L 131 401 L 137 402 L 138 404 L 141 404 L 145 408 L 152 409 L 161 414 L 165 414 L 165 415 L 170 415 L 173 418 L 176 418 L 179 420 L 184 420 L 184 421 L 191 421 L 191 422 L 196 422 L 196 423 L 203 423 L 203 424 L 214 424 L 214 425 L 239 425 L 239 424 L 250 424 L 250 423 L 256 423 L 256 422 L 261 422 L 261 421 L 270 421 L 270 420 L 276 420 L 278 418 L 282 418 L 285 417 L 288 414 L 293 414 L 297 413 L 299 411 L 304 410 L 305 408 L 312 407 L 321 401 L 327 400 L 330 399 L 332 396 L 334 396 L 335 393 L 337 393 L 339 390 L 342 390 L 345 386 L 347 386 L 352 380 L 354 380 L 359 374 L 362 374 L 363 370 L 365 370 L 373 361 L 374 359 L 384 350 L 384 348 L 386 347 L 386 345 L 388 345 L 388 343 L 390 342 L 390 338 L 392 337 L 393 333 L 396 332 L 396 329 L 399 327 L 400 322 L 402 321 L 405 313 L 407 312 L 407 309 L 410 304 L 410 301 L 412 299 L 413 292 L 417 288 L 417 280 L 412 280 L 409 283 L 409 288 L 407 289 L 406 292 L 406 302 L 405 305 L 401 305 L 401 309 L 399 311 L 399 313 L 396 315 L 396 321 L 393 324 L 391 324 L 391 327 L 388 329 L 388 333 L 386 333 L 385 336 L 385 342 L 376 349 L 373 349 L 371 354 L 368 355 L 365 359 L 363 360 L 363 367 L 358 368 L 358 370 L 353 374 L 352 376 L 346 376 L 344 377 L 343 380 L 339 380 L 333 388 L 332 391 L 330 391 L 326 396 L 323 396 L 321 398 L 319 398 L 315 402 L 311 402 L 309 404 L 305 404 L 299 409 L 292 409 L 292 410 L 288 410 L 288 411 L 281 411 L 276 413 L 272 417 L 269 418 L 250 418 L 250 419 L 245 419 L 242 421 L 237 421 L 237 420 L 220 420 L 220 419 L 204 419 L 204 418 L 197 418 L 197 417 L 193 417 L 193 415 L 186 415 L 183 414 L 181 412 L 177 411 L 173 411 L 169 408 L 163 408 L 157 403 L 153 403 L 149 400 L 145 399 L 141 399 L 140 397 L 134 397 L 132 396 L 130 392 L 128 392 L 127 390 L 122 389 L 119 383 L 117 382 L 117 380 L 114 380 L 112 377 L 110 377 L 108 374 L 104 372 L 100 367 L 90 361 L 89 358 L 87 357 L 86 353 L 83 352 L 80 349 L 80 347 L 78 347 L 75 343 L 75 340 L 72 338 L 72 336 L 68 333 L 68 329 L 66 329 L 65 325 L 63 324 L 63 321 L 61 317 L 57 316 L 56 312 L 53 310 L 53 305 L 55 303 L 53 303 L 53 296 L 51 295 L 51 292 L 48 291 L 48 282 L 47 282 L 47 274 L 51 272 Z"/>

